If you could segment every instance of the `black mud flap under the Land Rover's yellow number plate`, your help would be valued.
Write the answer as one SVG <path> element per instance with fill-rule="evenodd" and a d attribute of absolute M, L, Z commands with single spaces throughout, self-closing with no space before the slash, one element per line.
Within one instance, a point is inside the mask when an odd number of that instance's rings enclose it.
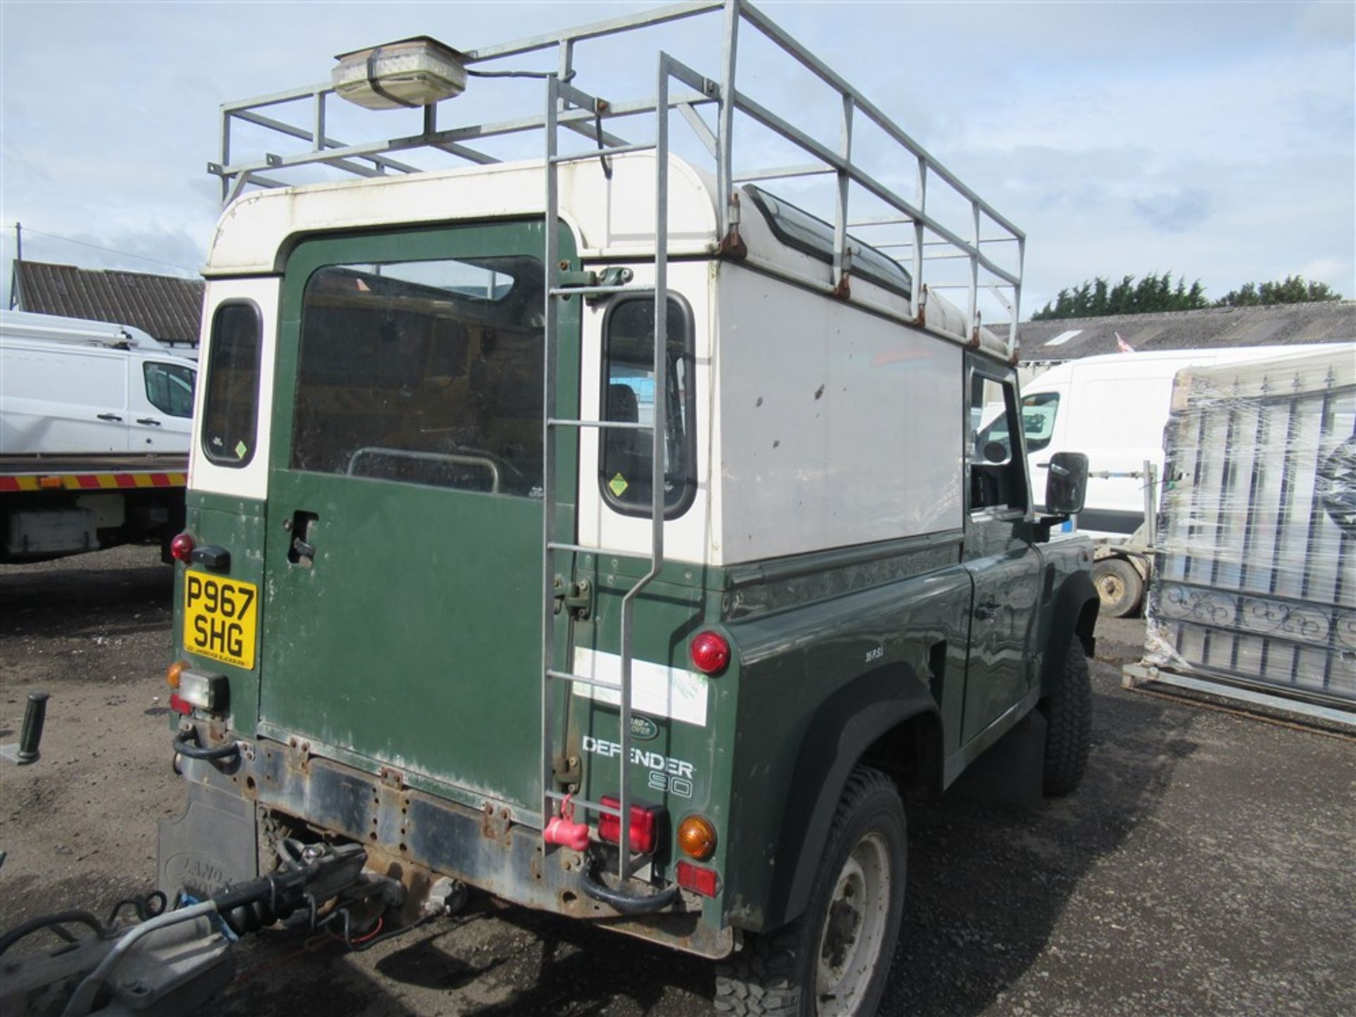
<path fill-rule="evenodd" d="M 178 819 L 160 820 L 156 884 L 170 900 L 180 890 L 206 898 L 229 883 L 259 875 L 252 801 L 205 784 L 188 782 L 188 805 Z"/>

